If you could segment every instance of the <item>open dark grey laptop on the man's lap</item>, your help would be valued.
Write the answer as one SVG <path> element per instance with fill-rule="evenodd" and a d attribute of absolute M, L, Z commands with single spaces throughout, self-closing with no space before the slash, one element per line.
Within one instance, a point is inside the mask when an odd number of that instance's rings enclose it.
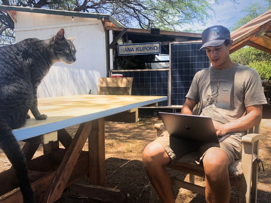
<path fill-rule="evenodd" d="M 230 136 L 230 134 L 226 134 L 217 137 L 211 117 L 178 113 L 158 113 L 171 136 L 215 143 L 219 143 Z"/>

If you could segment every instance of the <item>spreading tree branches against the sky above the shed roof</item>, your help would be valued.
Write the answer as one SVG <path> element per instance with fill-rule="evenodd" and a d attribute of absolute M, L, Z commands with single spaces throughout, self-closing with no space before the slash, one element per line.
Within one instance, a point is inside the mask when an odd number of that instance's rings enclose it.
<path fill-rule="evenodd" d="M 2 5 L 110 14 L 126 27 L 162 30 L 176 30 L 177 26 L 193 22 L 205 25 L 207 19 L 213 18 L 209 11 L 214 13 L 208 0 L 2 0 Z M 0 11 L 0 35 L 6 37 L 7 29 L 13 30 L 14 23 Z"/>

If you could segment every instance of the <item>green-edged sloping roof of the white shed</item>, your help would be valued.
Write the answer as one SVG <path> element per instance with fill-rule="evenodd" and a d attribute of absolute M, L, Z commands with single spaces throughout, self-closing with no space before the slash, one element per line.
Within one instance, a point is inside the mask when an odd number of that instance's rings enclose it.
<path fill-rule="evenodd" d="M 41 14 L 51 14 L 51 15 L 64 15 L 70 17 L 81 17 L 81 18 L 96 18 L 98 20 L 104 20 L 105 22 L 111 22 L 117 27 L 125 27 L 115 18 L 109 14 L 97 14 L 97 13 L 87 13 L 87 12 L 75 12 L 66 10 L 52 10 L 52 9 L 40 9 L 40 8 L 30 8 L 30 7 L 20 7 L 20 6 L 4 6 L 0 5 L 0 11 L 7 12 L 13 18 L 13 14 L 16 11 L 20 12 L 30 12 L 30 13 L 41 13 Z"/>

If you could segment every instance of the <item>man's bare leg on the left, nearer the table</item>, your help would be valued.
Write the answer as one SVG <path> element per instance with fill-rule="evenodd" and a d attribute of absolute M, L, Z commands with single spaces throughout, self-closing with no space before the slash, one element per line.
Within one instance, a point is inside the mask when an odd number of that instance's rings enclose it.
<path fill-rule="evenodd" d="M 151 142 L 144 149 L 142 160 L 148 177 L 162 202 L 175 202 L 170 178 L 163 166 L 171 161 L 164 147 L 158 142 Z"/>

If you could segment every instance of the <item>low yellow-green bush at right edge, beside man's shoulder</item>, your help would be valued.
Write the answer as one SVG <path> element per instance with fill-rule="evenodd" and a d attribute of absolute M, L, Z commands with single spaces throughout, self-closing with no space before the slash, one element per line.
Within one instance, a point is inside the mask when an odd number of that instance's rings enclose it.
<path fill-rule="evenodd" d="M 260 74 L 262 80 L 268 80 L 271 77 L 271 62 L 270 61 L 255 61 L 250 62 L 249 67 L 254 68 Z"/>

